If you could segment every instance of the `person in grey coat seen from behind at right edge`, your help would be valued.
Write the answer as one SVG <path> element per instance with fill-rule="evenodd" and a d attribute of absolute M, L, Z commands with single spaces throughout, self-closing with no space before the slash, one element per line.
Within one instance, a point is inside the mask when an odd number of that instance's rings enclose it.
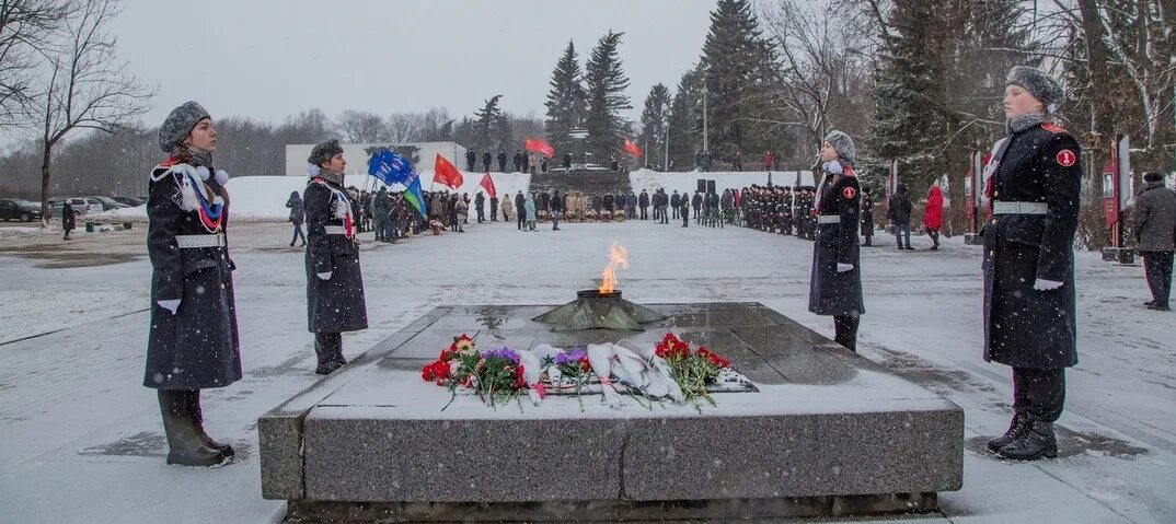
<path fill-rule="evenodd" d="M 1156 311 L 1171 311 L 1172 251 L 1176 250 L 1176 193 L 1164 187 L 1160 173 L 1144 173 L 1143 187 L 1135 197 L 1135 239 L 1143 257 L 1151 300 L 1143 304 Z"/>

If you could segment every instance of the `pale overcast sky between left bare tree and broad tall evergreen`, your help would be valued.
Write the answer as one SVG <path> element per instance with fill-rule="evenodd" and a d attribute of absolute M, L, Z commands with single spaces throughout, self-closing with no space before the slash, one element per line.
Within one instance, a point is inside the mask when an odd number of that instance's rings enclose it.
<path fill-rule="evenodd" d="M 214 119 L 280 122 L 319 107 L 380 114 L 482 101 L 542 117 L 555 61 L 574 40 L 581 66 L 608 29 L 640 115 L 649 88 L 697 59 L 714 0 L 126 0 L 112 26 L 119 56 L 159 86 L 143 117 L 159 125 L 186 100 Z"/>

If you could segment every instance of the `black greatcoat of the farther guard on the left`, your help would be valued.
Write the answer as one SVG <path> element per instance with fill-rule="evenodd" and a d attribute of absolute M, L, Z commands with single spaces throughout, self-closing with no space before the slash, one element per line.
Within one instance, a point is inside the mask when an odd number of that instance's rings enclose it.
<path fill-rule="evenodd" d="M 326 233 L 327 226 L 343 226 L 335 209 L 347 206 L 347 193 L 338 183 L 315 179 L 306 186 L 302 200 L 306 202 L 308 329 L 312 332 L 367 329 L 360 248 L 347 235 Z M 319 278 L 318 274 L 328 271 L 330 280 Z"/>

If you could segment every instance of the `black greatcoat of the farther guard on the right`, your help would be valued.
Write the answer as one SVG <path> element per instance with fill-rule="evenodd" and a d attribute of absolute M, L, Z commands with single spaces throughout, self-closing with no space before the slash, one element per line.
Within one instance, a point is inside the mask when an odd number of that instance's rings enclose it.
<path fill-rule="evenodd" d="M 821 215 L 840 216 L 840 223 L 817 226 L 813 244 L 813 277 L 809 282 L 809 311 L 843 316 L 866 313 L 862 301 L 861 257 L 857 247 L 860 190 L 853 168 L 842 175 L 827 175 L 820 189 Z M 837 264 L 854 269 L 837 273 Z"/>

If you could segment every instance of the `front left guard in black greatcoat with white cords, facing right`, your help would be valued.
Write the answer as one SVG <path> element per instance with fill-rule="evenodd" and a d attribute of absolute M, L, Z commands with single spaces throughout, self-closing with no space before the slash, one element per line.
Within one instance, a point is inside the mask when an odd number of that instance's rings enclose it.
<path fill-rule="evenodd" d="M 200 390 L 241 379 L 233 270 L 226 228 L 228 174 L 213 167 L 216 129 L 196 102 L 168 114 L 151 172 L 147 254 L 151 328 L 143 385 L 158 390 L 167 463 L 212 466 L 235 454 L 205 432 Z"/>

